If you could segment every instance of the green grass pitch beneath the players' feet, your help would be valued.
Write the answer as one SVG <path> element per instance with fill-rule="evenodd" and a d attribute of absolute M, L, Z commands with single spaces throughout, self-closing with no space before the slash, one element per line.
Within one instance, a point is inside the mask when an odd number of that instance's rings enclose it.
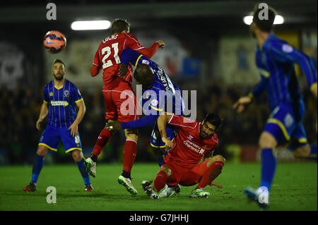
<path fill-rule="evenodd" d="M 261 164 L 225 164 L 216 183 L 223 189 L 206 187 L 209 198 L 193 199 L 192 187 L 181 187 L 181 193 L 170 198 L 152 200 L 143 193 L 141 182 L 152 180 L 158 172 L 155 163 L 136 163 L 132 170 L 138 195 L 131 196 L 117 183 L 122 164 L 98 164 L 97 177 L 90 178 L 95 191 L 86 193 L 76 164 L 43 166 L 37 191 L 24 193 L 30 182 L 31 166 L 0 167 L 0 210 L 164 210 L 216 211 L 259 210 L 247 202 L 244 189 L 256 188 L 260 181 Z M 57 203 L 47 203 L 48 186 L 57 189 Z M 317 210 L 317 163 L 281 163 L 271 189 L 269 210 Z"/>

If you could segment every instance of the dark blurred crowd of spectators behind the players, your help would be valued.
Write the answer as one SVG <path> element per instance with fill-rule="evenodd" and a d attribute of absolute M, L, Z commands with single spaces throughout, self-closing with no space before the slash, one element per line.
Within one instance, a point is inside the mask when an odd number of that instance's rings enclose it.
<path fill-rule="evenodd" d="M 193 90 L 191 78 L 175 80 L 183 90 Z M 258 138 L 264 128 L 270 111 L 266 95 L 261 95 L 244 113 L 237 114 L 232 109 L 232 104 L 242 95 L 252 90 L 252 87 L 239 85 L 225 85 L 220 80 L 208 79 L 206 88 L 200 90 L 196 87 L 196 118 L 201 121 L 207 113 L 217 113 L 224 118 L 222 128 L 218 133 L 220 145 L 218 153 L 227 157 L 225 146 L 257 145 Z M 100 88 L 90 93 L 79 87 L 86 104 L 86 115 L 79 125 L 79 133 L 85 157 L 90 155 L 95 145 L 100 130 L 105 126 L 105 104 Z M 303 91 L 306 114 L 304 125 L 309 142 L 317 142 L 317 99 L 309 88 Z M 42 130 L 35 128 L 35 123 L 40 114 L 42 104 L 42 90 L 33 90 L 30 87 L 20 87 L 8 90 L 1 86 L 0 92 L 0 164 L 30 164 L 37 150 Z M 46 123 L 42 124 L 44 129 Z M 155 157 L 150 148 L 152 128 L 139 130 L 139 145 L 136 162 L 155 162 Z M 117 132 L 105 147 L 99 157 L 100 162 L 119 162 L 122 160 L 124 149 L 124 132 Z M 63 145 L 59 145 L 58 152 L 49 151 L 48 161 L 73 162 L 71 157 L 66 157 Z M 228 156 L 229 157 L 229 156 Z"/>

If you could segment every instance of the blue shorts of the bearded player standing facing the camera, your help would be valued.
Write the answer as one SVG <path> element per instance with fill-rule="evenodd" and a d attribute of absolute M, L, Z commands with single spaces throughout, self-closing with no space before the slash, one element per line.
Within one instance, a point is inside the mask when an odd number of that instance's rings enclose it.
<path fill-rule="evenodd" d="M 49 150 L 57 152 L 57 147 L 59 146 L 60 140 L 64 145 L 66 153 L 73 150 L 82 150 L 81 138 L 79 134 L 73 137 L 71 135 L 71 130 L 68 130 L 68 128 L 55 128 L 49 125 L 47 125 L 43 131 L 39 145 L 45 145 L 49 148 Z"/>

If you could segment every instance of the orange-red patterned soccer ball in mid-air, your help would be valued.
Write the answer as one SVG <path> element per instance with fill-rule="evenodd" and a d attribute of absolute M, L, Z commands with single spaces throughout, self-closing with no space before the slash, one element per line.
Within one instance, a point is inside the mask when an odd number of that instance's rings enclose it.
<path fill-rule="evenodd" d="M 59 53 L 66 47 L 66 37 L 57 30 L 50 30 L 45 34 L 43 44 L 50 53 Z"/>

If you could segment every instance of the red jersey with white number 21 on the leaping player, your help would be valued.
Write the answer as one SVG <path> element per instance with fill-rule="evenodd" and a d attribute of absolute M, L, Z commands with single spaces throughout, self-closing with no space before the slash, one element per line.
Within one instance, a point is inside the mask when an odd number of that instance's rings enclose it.
<path fill-rule="evenodd" d="M 126 32 L 110 35 L 103 39 L 95 53 L 93 64 L 102 67 L 102 80 L 104 84 L 108 85 L 113 80 L 119 78 L 117 73 L 121 63 L 120 56 L 124 49 L 139 50 L 143 48 L 134 35 Z M 132 82 L 132 69 L 130 66 L 126 76 L 122 79 L 128 83 Z"/>

